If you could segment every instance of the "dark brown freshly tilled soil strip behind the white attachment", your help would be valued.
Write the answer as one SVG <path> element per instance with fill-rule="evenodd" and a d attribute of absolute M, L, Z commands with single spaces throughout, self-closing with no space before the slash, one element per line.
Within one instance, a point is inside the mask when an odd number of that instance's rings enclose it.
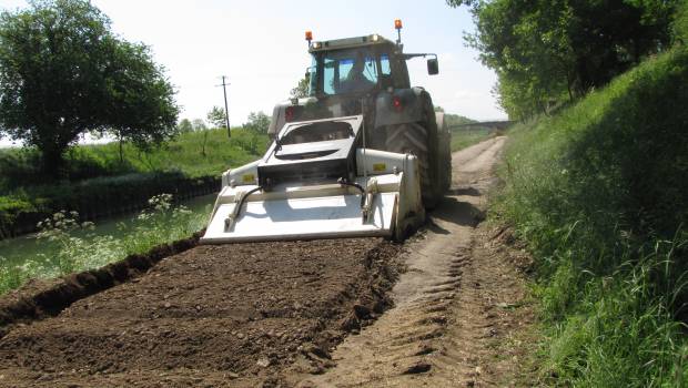
<path fill-rule="evenodd" d="M 199 246 L 0 339 L 0 386 L 255 386 L 318 374 L 388 306 L 376 238 Z"/>

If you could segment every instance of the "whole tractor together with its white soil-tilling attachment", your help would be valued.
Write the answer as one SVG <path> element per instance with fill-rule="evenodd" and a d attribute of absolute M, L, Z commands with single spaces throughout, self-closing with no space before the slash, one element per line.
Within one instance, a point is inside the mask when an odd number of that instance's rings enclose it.
<path fill-rule="evenodd" d="M 449 132 L 403 53 L 378 34 L 313 42 L 307 96 L 279 104 L 265 155 L 226 171 L 203 244 L 403 239 L 451 183 Z"/>

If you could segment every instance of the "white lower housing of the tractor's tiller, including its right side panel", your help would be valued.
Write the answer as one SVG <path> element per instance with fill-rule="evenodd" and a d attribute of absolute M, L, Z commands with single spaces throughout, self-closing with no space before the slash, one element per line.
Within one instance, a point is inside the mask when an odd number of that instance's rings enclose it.
<path fill-rule="evenodd" d="M 229 182 L 251 175 L 253 164 L 225 174 L 201 243 L 393 237 L 424 221 L 415 156 L 376 150 L 367 150 L 365 157 L 357 150 L 356 156 L 358 176 L 351 184 L 294 182 L 255 191 L 243 201 L 257 186 Z"/>

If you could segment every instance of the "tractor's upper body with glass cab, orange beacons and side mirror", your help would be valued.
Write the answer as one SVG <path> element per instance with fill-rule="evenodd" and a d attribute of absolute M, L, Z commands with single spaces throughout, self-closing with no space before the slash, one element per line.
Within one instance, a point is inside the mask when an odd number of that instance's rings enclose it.
<path fill-rule="evenodd" d="M 401 21 L 395 27 L 399 32 Z M 438 73 L 436 54 L 403 52 L 401 32 L 394 42 L 376 33 L 313 41 L 306 31 L 306 41 L 312 58 L 305 74 L 308 92 L 275 106 L 267 131 L 272 139 L 295 121 L 361 114 L 366 126 L 378 126 L 416 120 L 423 109 L 423 99 L 417 99 L 422 89 L 411 86 L 406 61 L 431 57 L 428 74 Z"/>

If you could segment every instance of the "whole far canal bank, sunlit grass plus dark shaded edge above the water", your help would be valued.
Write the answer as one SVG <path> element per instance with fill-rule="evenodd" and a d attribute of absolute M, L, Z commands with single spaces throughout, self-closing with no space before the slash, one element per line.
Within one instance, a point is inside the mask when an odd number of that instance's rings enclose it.
<path fill-rule="evenodd" d="M 206 186 L 229 167 L 257 159 L 267 142 L 244 129 L 234 129 L 231 139 L 225 130 L 191 132 L 148 152 L 124 143 L 123 162 L 118 143 L 80 145 L 68 153 L 68 180 L 57 184 L 42 180 L 36 151 L 0 151 L 0 236 L 10 234 L 18 221 L 36 225 L 43 213 L 107 216 L 156 193 Z"/>

